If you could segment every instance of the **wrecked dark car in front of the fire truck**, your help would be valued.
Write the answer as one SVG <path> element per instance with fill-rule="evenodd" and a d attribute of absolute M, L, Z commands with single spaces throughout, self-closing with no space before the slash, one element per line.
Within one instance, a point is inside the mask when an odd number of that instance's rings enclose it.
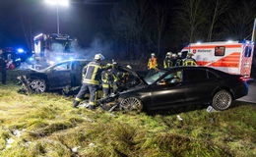
<path fill-rule="evenodd" d="M 24 78 L 36 93 L 77 87 L 82 84 L 82 70 L 89 62 L 79 59 L 63 61 L 43 70 L 32 69 Z"/>

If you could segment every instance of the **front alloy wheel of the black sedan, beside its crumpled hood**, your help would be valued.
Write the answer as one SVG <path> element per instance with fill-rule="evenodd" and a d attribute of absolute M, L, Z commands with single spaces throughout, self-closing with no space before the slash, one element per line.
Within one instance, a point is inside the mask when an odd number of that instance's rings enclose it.
<path fill-rule="evenodd" d="M 136 97 L 128 97 L 120 102 L 120 109 L 124 111 L 142 112 L 142 101 Z"/>

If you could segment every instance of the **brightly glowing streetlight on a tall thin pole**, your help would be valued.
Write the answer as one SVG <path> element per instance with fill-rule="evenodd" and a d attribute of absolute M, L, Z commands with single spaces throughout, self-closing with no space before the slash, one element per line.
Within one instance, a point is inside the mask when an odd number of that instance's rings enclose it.
<path fill-rule="evenodd" d="M 44 0 L 44 2 L 50 6 L 56 7 L 56 14 L 57 14 L 57 33 L 60 33 L 59 28 L 59 7 L 68 7 L 69 0 Z"/>

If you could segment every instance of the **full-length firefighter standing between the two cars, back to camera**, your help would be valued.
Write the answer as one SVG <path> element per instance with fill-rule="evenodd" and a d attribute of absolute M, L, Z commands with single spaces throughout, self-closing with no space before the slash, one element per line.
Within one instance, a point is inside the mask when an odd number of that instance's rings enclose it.
<path fill-rule="evenodd" d="M 112 65 L 102 66 L 100 61 L 103 59 L 101 54 L 96 54 L 95 60 L 90 62 L 83 69 L 83 85 L 76 96 L 73 107 L 77 108 L 81 101 L 83 101 L 85 94 L 90 93 L 89 104 L 86 106 L 89 109 L 96 109 L 96 91 L 99 87 L 101 72 L 110 68 Z"/>

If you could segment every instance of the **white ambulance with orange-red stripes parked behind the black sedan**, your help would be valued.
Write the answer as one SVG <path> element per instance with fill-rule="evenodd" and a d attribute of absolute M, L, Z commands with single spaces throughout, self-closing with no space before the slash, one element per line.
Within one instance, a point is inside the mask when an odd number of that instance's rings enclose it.
<path fill-rule="evenodd" d="M 208 66 L 229 74 L 250 77 L 254 42 L 222 41 L 191 43 L 182 49 L 185 56 L 193 53 L 199 66 Z"/>

